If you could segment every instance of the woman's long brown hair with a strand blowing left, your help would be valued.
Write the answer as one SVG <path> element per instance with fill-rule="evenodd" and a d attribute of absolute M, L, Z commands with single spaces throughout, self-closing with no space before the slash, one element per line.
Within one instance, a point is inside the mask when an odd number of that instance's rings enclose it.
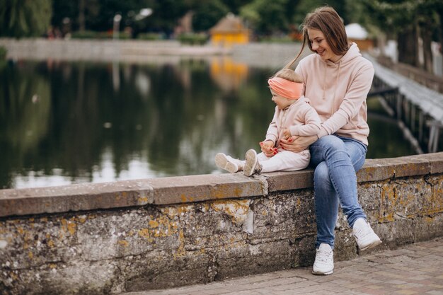
<path fill-rule="evenodd" d="M 330 6 L 321 6 L 316 8 L 313 13 L 308 13 L 301 24 L 301 28 L 303 33 L 301 50 L 297 57 L 284 66 L 287 69 L 300 57 L 306 43 L 308 43 L 309 49 L 313 52 L 311 41 L 309 41 L 308 29 L 321 30 L 330 49 L 337 55 L 344 55 L 349 49 L 345 25 L 337 11 Z"/>

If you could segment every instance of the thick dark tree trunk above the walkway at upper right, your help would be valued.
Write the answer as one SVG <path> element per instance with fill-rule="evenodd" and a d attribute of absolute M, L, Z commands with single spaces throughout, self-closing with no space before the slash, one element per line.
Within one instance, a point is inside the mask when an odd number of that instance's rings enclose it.
<path fill-rule="evenodd" d="M 398 62 L 419 66 L 417 25 L 405 28 L 397 36 Z"/>

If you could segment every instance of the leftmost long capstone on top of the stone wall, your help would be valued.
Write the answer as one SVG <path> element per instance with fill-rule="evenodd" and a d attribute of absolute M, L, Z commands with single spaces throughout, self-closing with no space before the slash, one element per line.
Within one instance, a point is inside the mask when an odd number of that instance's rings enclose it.
<path fill-rule="evenodd" d="M 153 202 L 144 180 L 0 190 L 0 217 L 142 206 Z"/>

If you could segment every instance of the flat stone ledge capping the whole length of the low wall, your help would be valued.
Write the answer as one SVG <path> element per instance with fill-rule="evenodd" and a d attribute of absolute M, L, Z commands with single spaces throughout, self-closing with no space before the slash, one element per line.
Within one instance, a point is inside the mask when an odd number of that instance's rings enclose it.
<path fill-rule="evenodd" d="M 367 159 L 357 179 L 364 183 L 429 173 L 443 173 L 443 152 Z M 253 178 L 225 173 L 0 190 L 0 217 L 235 199 L 312 185 L 313 170 L 305 169 Z"/>

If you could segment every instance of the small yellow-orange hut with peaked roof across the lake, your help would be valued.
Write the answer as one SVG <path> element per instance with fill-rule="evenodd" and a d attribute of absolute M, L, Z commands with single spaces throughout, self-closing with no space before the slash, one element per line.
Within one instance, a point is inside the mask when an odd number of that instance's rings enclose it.
<path fill-rule="evenodd" d="M 249 42 L 249 30 L 243 25 L 241 18 L 229 13 L 217 25 L 209 30 L 211 42 L 216 46 L 232 47 L 234 44 Z"/>

